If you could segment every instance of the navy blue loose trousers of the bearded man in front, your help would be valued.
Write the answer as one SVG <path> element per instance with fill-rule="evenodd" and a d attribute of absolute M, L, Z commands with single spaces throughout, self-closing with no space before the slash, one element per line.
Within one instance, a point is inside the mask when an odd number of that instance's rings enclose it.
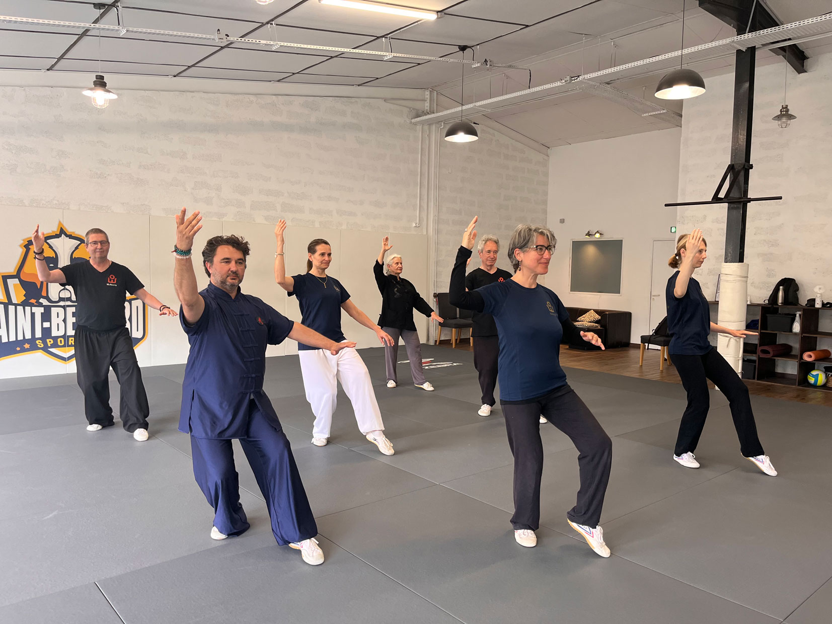
<path fill-rule="evenodd" d="M 249 428 L 240 444 L 255 473 L 280 546 L 318 534 L 304 484 L 283 429 L 250 403 Z M 240 479 L 231 440 L 191 436 L 194 477 L 211 507 L 214 526 L 225 535 L 240 535 L 250 524 L 240 504 Z"/>

